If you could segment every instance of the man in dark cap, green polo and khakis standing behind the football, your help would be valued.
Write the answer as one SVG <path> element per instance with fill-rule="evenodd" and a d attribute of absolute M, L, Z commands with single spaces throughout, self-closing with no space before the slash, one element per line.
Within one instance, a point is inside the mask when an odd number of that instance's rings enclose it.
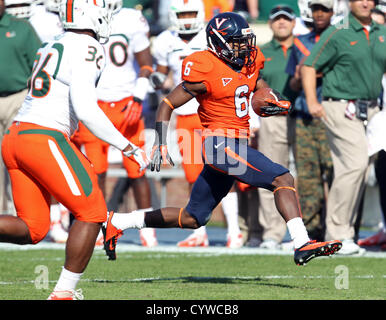
<path fill-rule="evenodd" d="M 269 26 L 273 31 L 270 42 L 261 47 L 266 61 L 261 75 L 267 84 L 284 95 L 292 103 L 296 93 L 289 87 L 289 75 L 285 73 L 288 58 L 293 48 L 293 29 L 296 16 L 287 6 L 274 7 L 269 16 Z M 293 127 L 290 117 L 279 115 L 260 119 L 258 150 L 284 167 L 289 165 L 290 138 Z M 263 227 L 262 248 L 272 249 L 282 242 L 286 225 L 281 219 L 269 190 L 259 188 L 259 222 Z"/>

